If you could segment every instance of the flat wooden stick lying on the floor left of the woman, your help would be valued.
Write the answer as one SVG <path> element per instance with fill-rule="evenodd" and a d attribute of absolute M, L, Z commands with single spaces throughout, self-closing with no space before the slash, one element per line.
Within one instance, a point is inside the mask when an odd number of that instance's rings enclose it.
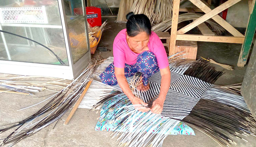
<path fill-rule="evenodd" d="M 77 107 L 79 106 L 80 102 L 83 99 L 83 96 L 85 95 L 85 93 L 87 92 L 88 88 L 90 87 L 91 83 L 93 81 L 93 78 L 90 79 L 90 81 L 87 83 L 86 87 L 83 90 L 83 93 L 80 95 L 80 97 L 78 98 L 76 104 L 74 105 L 73 109 L 71 110 L 70 114 L 68 115 L 66 121 L 64 122 L 64 125 L 67 125 L 68 122 L 70 121 L 70 119 L 72 118 L 72 116 L 74 115 L 74 113 L 76 112 Z"/>

